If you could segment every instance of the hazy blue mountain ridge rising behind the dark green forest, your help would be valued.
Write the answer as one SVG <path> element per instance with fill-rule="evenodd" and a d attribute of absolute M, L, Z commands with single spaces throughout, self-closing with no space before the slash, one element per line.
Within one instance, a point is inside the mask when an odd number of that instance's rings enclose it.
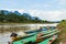
<path fill-rule="evenodd" d="M 21 14 L 20 12 L 18 12 L 18 11 L 14 11 L 14 12 L 12 12 L 12 11 L 8 11 L 8 10 L 0 10 L 0 13 L 4 13 L 4 14 L 10 14 L 10 13 L 15 13 L 16 15 L 24 15 L 24 16 L 26 16 L 26 18 L 31 18 L 32 20 L 35 20 L 35 18 L 36 16 L 32 16 L 32 15 L 30 15 L 29 13 L 23 13 L 23 14 Z M 40 18 L 37 18 L 38 20 L 40 20 Z"/>

